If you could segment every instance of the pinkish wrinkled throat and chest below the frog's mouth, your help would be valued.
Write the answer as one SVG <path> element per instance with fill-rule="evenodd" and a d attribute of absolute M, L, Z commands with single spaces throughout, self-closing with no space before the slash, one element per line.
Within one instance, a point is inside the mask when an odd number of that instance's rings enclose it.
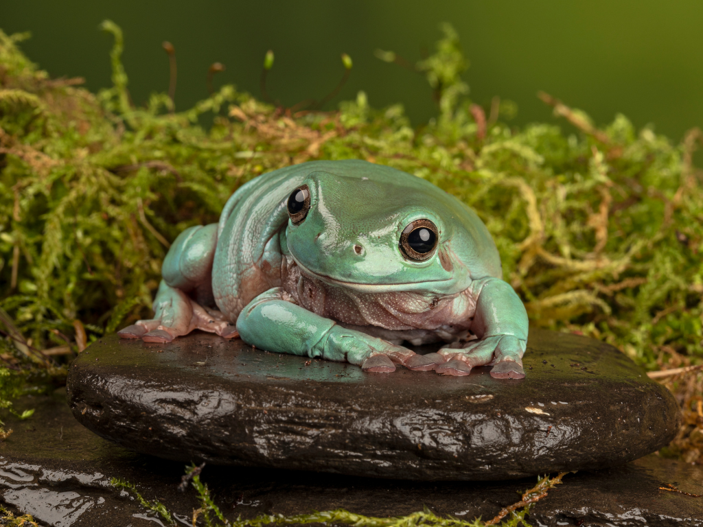
<path fill-rule="evenodd" d="M 285 259 L 284 259 L 285 260 Z M 389 341 L 427 344 L 465 338 L 476 302 L 470 292 L 438 297 L 420 292 L 358 292 L 301 273 L 290 260 L 282 266 L 283 289 L 299 306 L 345 327 Z"/>

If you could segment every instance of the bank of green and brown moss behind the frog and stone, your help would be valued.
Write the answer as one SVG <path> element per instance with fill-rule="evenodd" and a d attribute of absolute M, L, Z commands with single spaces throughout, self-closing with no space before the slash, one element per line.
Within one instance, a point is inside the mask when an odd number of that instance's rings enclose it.
<path fill-rule="evenodd" d="M 623 115 L 598 128 L 546 94 L 568 131 L 517 129 L 505 122 L 511 105 L 468 98 L 449 26 L 413 66 L 437 98 L 422 126 L 400 105 L 372 108 L 363 92 L 333 112 L 280 108 L 234 86 L 186 111 L 165 93 L 136 107 L 120 29 L 103 29 L 115 36 L 113 86 L 97 94 L 80 79 L 50 79 L 19 50 L 24 36 L 0 32 L 3 405 L 60 384 L 87 343 L 147 318 L 181 230 L 217 221 L 250 178 L 316 159 L 388 164 L 464 200 L 494 236 L 531 323 L 610 342 L 648 370 L 703 363 L 699 130 L 674 143 Z M 703 462 L 703 377 L 667 379 L 685 412 L 669 452 Z"/>

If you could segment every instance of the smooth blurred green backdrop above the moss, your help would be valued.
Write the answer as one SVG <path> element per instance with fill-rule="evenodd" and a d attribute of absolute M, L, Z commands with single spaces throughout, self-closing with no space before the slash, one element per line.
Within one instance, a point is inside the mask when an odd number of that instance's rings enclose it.
<path fill-rule="evenodd" d="M 321 98 L 342 77 L 340 53 L 354 60 L 349 82 L 328 105 L 363 89 L 371 105 L 400 102 L 413 123 L 434 115 L 420 75 L 373 56 L 393 50 L 415 62 L 456 27 L 471 67 L 465 74 L 475 102 L 514 100 L 516 124 L 550 121 L 536 98 L 547 91 L 586 110 L 598 124 L 617 112 L 636 126 L 678 141 L 703 125 L 703 2 L 693 0 L 557 1 L 3 1 L 0 27 L 30 31 L 25 52 L 52 76 L 85 77 L 96 91 L 110 85 L 111 37 L 98 31 L 110 18 L 125 36 L 124 65 L 135 103 L 166 91 L 162 41 L 176 48 L 176 108 L 207 96 L 206 73 L 219 61 L 216 86 L 234 83 L 259 96 L 266 50 L 276 53 L 269 92 L 285 105 Z"/>

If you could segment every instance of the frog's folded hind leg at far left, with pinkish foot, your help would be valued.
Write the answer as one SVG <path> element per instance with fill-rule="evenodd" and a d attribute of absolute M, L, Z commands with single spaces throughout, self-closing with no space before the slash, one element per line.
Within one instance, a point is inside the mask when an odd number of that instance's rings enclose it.
<path fill-rule="evenodd" d="M 146 342 L 170 342 L 195 329 L 236 337 L 234 325 L 222 313 L 195 300 L 212 301 L 212 259 L 216 245 L 216 224 L 184 230 L 164 259 L 164 279 L 154 299 L 154 318 L 138 320 L 117 334 L 123 339 Z"/>

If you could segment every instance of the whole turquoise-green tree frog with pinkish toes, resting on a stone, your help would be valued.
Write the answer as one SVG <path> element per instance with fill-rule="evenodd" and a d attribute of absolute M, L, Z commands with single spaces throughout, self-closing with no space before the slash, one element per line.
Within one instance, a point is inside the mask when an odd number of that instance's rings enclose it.
<path fill-rule="evenodd" d="M 527 313 L 496 245 L 456 197 L 359 160 L 253 179 L 218 224 L 191 227 L 162 266 L 155 315 L 120 336 L 171 341 L 200 329 L 367 372 L 524 377 Z M 416 355 L 404 342 L 444 341 Z"/>

